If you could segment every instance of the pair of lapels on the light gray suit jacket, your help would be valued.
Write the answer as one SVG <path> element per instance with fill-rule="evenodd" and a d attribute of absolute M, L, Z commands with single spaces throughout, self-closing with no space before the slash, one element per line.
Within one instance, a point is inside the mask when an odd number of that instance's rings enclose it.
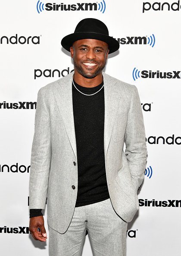
<path fill-rule="evenodd" d="M 73 73 L 67 75 L 63 79 L 59 79 L 58 83 L 53 87 L 53 94 L 58 106 L 60 115 L 64 122 L 67 135 L 69 137 L 72 150 L 77 159 L 74 115 L 72 104 L 72 76 Z M 104 80 L 104 102 L 105 102 L 105 119 L 104 119 L 104 154 L 106 159 L 109 141 L 112 134 L 112 128 L 119 106 L 120 92 L 115 86 L 113 78 L 103 73 Z"/>

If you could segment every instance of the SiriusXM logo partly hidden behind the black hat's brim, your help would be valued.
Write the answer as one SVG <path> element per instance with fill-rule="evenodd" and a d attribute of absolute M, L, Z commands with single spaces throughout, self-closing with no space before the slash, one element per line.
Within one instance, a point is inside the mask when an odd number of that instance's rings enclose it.
<path fill-rule="evenodd" d="M 155 45 L 155 36 L 154 34 L 150 35 L 150 37 L 122 37 L 115 38 L 119 44 L 147 44 L 151 47 Z"/>

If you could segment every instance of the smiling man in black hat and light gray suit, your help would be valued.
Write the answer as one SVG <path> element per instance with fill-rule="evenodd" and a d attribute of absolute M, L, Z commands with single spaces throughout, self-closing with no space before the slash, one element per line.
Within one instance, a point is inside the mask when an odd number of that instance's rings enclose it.
<path fill-rule="evenodd" d="M 95 256 L 125 256 L 147 156 L 138 92 L 102 72 L 119 49 L 103 22 L 83 19 L 61 44 L 75 71 L 38 92 L 29 229 L 47 239 L 47 198 L 50 256 L 81 255 L 86 230 Z"/>

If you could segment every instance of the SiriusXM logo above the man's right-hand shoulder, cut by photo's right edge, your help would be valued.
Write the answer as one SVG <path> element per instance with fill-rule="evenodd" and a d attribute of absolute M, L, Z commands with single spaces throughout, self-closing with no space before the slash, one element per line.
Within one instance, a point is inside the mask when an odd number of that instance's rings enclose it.
<path fill-rule="evenodd" d="M 141 74 L 141 75 L 140 75 Z M 161 72 L 157 70 L 156 72 L 152 70 L 138 70 L 136 68 L 133 69 L 132 77 L 134 81 L 138 78 L 181 78 L 181 71 L 172 71 L 172 72 Z"/>

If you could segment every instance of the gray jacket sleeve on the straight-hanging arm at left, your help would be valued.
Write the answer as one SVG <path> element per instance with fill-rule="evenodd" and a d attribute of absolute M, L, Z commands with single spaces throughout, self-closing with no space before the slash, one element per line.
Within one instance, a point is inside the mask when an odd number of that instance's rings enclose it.
<path fill-rule="evenodd" d="M 50 113 L 43 88 L 38 91 L 31 149 L 29 208 L 45 209 L 51 164 Z"/>

